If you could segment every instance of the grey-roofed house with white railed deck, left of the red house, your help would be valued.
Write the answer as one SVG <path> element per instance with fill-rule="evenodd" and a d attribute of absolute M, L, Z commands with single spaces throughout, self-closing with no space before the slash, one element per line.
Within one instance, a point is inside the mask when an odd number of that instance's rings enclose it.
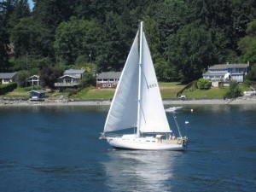
<path fill-rule="evenodd" d="M 64 75 L 55 83 L 55 87 L 59 90 L 65 88 L 75 88 L 79 85 L 79 80 L 83 78 L 85 69 L 69 69 L 64 72 Z"/>

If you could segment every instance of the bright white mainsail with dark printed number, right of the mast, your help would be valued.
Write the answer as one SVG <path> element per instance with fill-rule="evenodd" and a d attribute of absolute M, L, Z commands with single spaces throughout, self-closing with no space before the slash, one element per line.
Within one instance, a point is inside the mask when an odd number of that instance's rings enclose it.
<path fill-rule="evenodd" d="M 170 132 L 160 88 L 154 72 L 148 43 L 143 32 L 141 110 L 139 130 L 141 132 Z"/>

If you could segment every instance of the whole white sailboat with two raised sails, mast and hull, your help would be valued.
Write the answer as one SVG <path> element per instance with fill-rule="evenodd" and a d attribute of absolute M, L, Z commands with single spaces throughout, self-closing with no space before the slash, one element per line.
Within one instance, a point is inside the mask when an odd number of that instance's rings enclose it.
<path fill-rule="evenodd" d="M 124 130 L 133 132 L 123 133 Z M 187 137 L 181 134 L 173 137 L 166 118 L 143 21 L 125 62 L 100 138 L 119 149 L 184 150 L 187 146 Z"/>

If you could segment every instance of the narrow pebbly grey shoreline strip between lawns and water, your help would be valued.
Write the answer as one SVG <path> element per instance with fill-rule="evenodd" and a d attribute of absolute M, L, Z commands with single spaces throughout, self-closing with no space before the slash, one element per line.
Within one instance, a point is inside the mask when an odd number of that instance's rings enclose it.
<path fill-rule="evenodd" d="M 110 100 L 63 100 L 45 99 L 43 102 L 0 99 L 2 106 L 109 106 Z M 164 105 L 256 105 L 256 96 L 242 96 L 235 100 L 230 99 L 166 99 Z"/>

